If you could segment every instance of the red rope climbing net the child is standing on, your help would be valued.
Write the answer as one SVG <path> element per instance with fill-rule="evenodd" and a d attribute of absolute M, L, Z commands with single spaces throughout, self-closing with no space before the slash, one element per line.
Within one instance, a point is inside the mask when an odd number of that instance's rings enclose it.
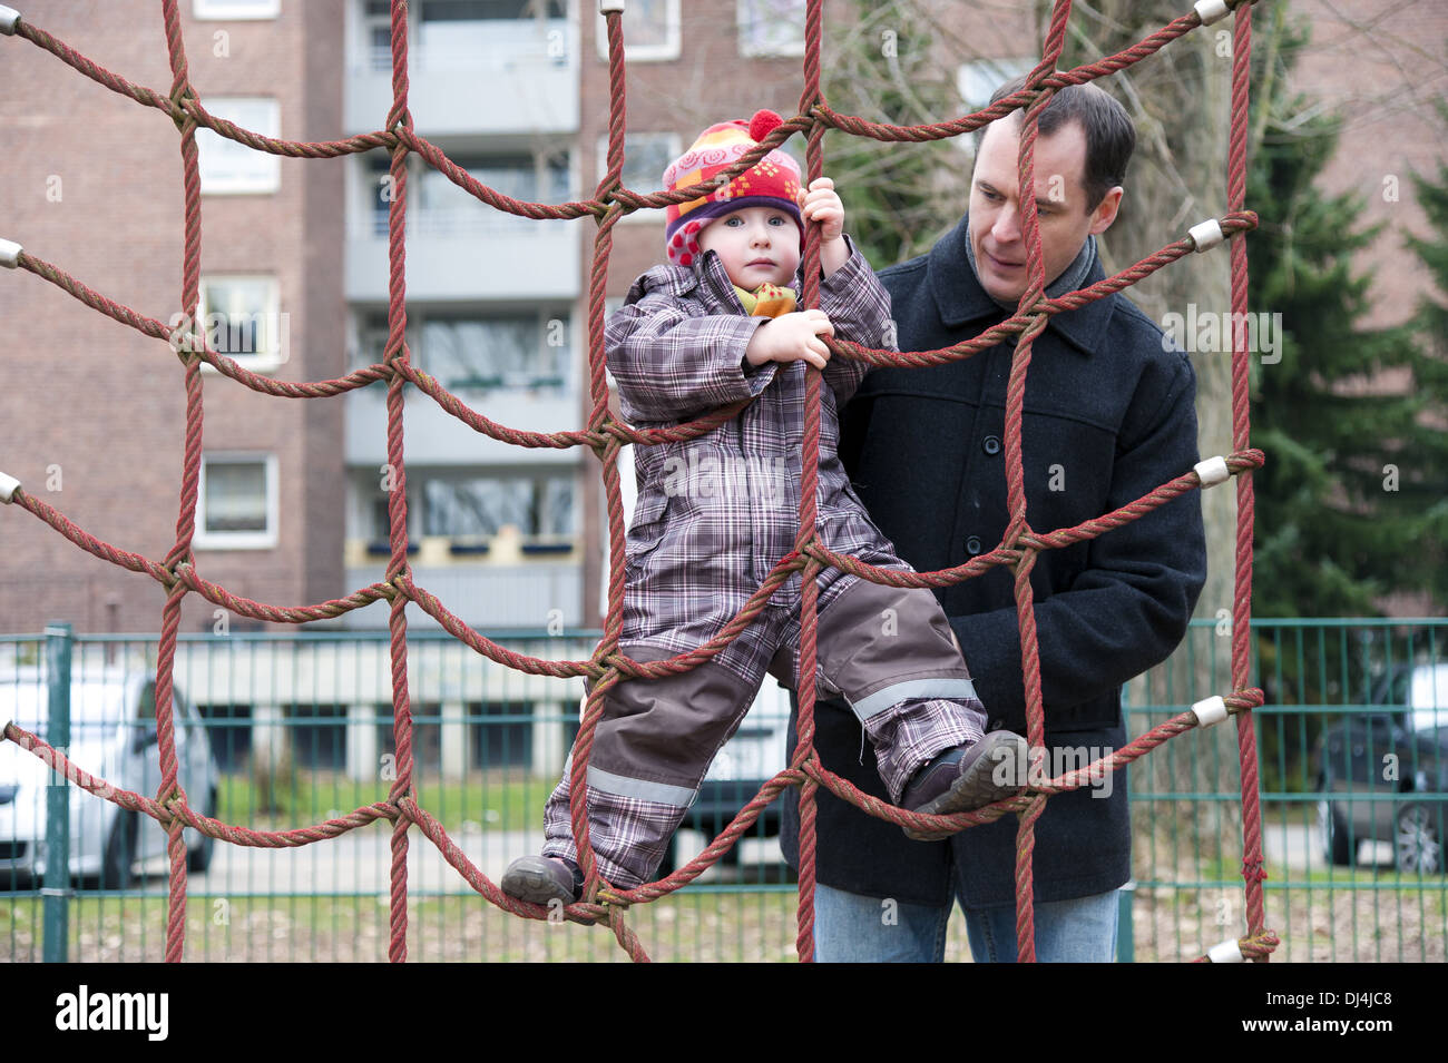
<path fill-rule="evenodd" d="M 1253 0 L 1254 1 L 1254 0 Z M 866 119 L 833 111 L 820 88 L 820 51 L 822 38 L 822 0 L 809 0 L 805 22 L 805 88 L 799 100 L 799 113 L 775 130 L 756 150 L 743 156 L 733 168 L 718 175 L 710 182 L 695 185 L 676 192 L 653 192 L 643 195 L 623 187 L 621 174 L 624 165 L 624 48 L 621 9 L 617 0 L 605 0 L 599 4 L 605 10 L 608 27 L 608 67 L 610 67 L 610 111 L 608 111 L 608 156 L 607 174 L 598 182 L 591 200 L 582 202 L 540 204 L 520 202 L 502 195 L 487 185 L 479 184 L 465 171 L 459 169 L 442 150 L 421 137 L 413 127 L 413 119 L 407 106 L 407 3 L 392 0 L 392 107 L 387 116 L 384 129 L 346 140 L 332 142 L 291 142 L 258 136 L 246 129 L 240 129 L 229 121 L 207 113 L 195 90 L 191 87 L 187 74 L 185 49 L 181 39 L 181 19 L 177 0 L 162 0 L 162 14 L 167 33 L 167 51 L 171 61 L 171 88 L 168 93 L 156 93 L 142 85 L 135 85 L 116 74 L 104 69 L 96 62 L 77 54 L 64 42 L 45 30 L 25 20 L 16 20 L 13 33 L 30 40 L 58 56 L 81 74 L 114 93 L 130 97 L 140 104 L 165 111 L 175 121 L 181 135 L 181 161 L 185 187 L 185 247 L 181 282 L 182 309 L 187 314 L 182 328 L 177 330 L 148 318 L 129 307 L 119 305 L 104 295 L 87 288 L 80 281 L 68 276 L 56 266 L 42 259 L 16 249 L 14 265 L 30 270 L 51 283 L 62 288 L 81 302 L 107 314 L 116 321 L 130 325 L 146 336 L 169 343 L 184 364 L 185 382 L 185 450 L 181 480 L 180 513 L 177 518 L 175 545 L 164 561 L 153 561 L 139 554 L 117 550 L 109 542 L 103 542 L 75 526 L 62 513 L 38 498 L 13 484 L 9 502 L 30 511 L 61 535 L 80 548 L 100 557 L 111 564 L 145 573 L 167 587 L 167 602 L 161 616 L 161 639 L 158 645 L 156 662 L 156 733 L 159 738 L 159 756 L 162 781 L 155 798 L 143 797 L 130 791 L 120 791 L 104 780 L 81 771 L 56 749 L 48 746 L 33 733 L 16 725 L 7 725 L 4 738 L 19 743 L 33 752 L 45 764 L 65 775 L 84 790 L 114 801 L 117 806 L 140 811 L 153 817 L 168 832 L 168 853 L 171 859 L 169 875 L 169 904 L 167 920 L 167 949 L 168 962 L 178 962 L 182 957 L 185 939 L 185 891 L 187 891 L 187 861 L 182 829 L 193 827 L 206 834 L 233 845 L 284 848 L 301 846 L 321 839 L 330 839 L 343 832 L 385 819 L 392 823 L 392 866 L 391 866 L 391 940 L 388 957 L 392 960 L 407 959 L 407 846 L 408 832 L 417 827 L 424 837 L 436 845 L 447 862 L 458 869 L 466 882 L 482 894 L 489 902 L 524 918 L 547 918 L 546 908 L 518 901 L 505 895 L 492 881 L 489 881 L 443 830 L 442 824 L 433 819 L 427 810 L 417 803 L 417 791 L 413 782 L 413 725 L 407 684 L 407 622 L 404 607 L 407 602 L 416 602 L 429 616 L 436 619 L 447 632 L 468 644 L 484 657 L 531 674 L 555 677 L 589 677 L 592 690 L 584 712 L 584 720 L 573 749 L 572 759 L 572 823 L 578 840 L 579 861 L 585 875 L 585 900 L 569 907 L 568 915 L 573 920 L 598 920 L 607 923 L 620 946 L 637 960 L 646 960 L 643 946 L 627 926 L 624 913 L 630 904 L 652 901 L 663 897 L 688 882 L 694 881 L 705 868 L 723 856 L 731 845 L 743 834 L 759 814 L 773 801 L 788 785 L 801 788 L 801 833 L 799 833 L 799 910 L 798 910 L 798 950 L 802 960 L 814 956 L 814 884 L 815 884 L 815 791 L 825 787 L 838 797 L 859 806 L 866 813 L 886 819 L 892 823 L 928 829 L 933 832 L 956 832 L 975 824 L 989 823 L 1001 816 L 1015 813 L 1019 816 L 1016 836 L 1016 927 L 1018 955 L 1022 960 L 1034 960 L 1032 934 L 1032 889 L 1031 889 L 1031 850 L 1034 846 L 1034 824 L 1045 807 L 1051 794 L 1087 785 L 1092 780 L 1099 780 L 1102 772 L 1115 771 L 1121 765 L 1129 764 L 1147 751 L 1154 749 L 1167 739 L 1193 727 L 1202 726 L 1196 712 L 1184 712 L 1166 723 L 1153 727 L 1145 735 L 1137 738 L 1122 749 L 1105 756 L 1090 765 L 1066 772 L 1045 782 L 1034 784 L 1028 793 L 1008 801 L 999 801 L 988 808 L 973 813 L 959 813 L 953 816 L 922 816 L 904 808 L 893 807 L 860 793 L 847 781 L 830 772 L 820 762 L 814 749 L 814 690 L 815 690 L 815 610 L 817 610 L 817 581 L 815 576 L 825 567 L 834 565 L 856 573 L 876 583 L 911 587 L 940 587 L 960 580 L 979 576 L 993 565 L 1009 565 L 1015 574 L 1016 612 L 1021 626 L 1021 664 L 1025 675 L 1027 691 L 1027 727 L 1028 740 L 1035 751 L 1044 746 L 1044 716 L 1041 709 L 1040 659 L 1035 638 L 1035 619 L 1031 605 L 1030 573 L 1035 557 L 1043 550 L 1051 550 L 1082 539 L 1095 538 L 1112 528 L 1121 526 L 1141 515 L 1161 506 L 1179 495 L 1203 487 L 1202 476 L 1197 471 L 1186 473 L 1170 480 L 1148 495 L 1137 499 L 1128 506 L 1115 512 L 1103 513 L 1099 518 L 1086 521 L 1074 528 L 1060 528 L 1050 532 L 1037 532 L 1027 522 L 1025 490 L 1021 463 L 1021 411 L 1025 395 L 1025 377 L 1031 364 L 1031 343 L 1038 336 L 1053 314 L 1073 309 L 1121 291 L 1157 269 L 1192 253 L 1205 250 L 1203 242 L 1197 237 L 1176 240 L 1157 253 L 1142 259 L 1128 269 L 1100 281 L 1090 288 L 1072 292 L 1056 299 L 1044 298 L 1044 278 L 1041 265 L 1040 230 L 1037 226 L 1034 197 L 1021 197 L 1024 205 L 1022 224 L 1028 246 L 1028 270 L 1031 282 L 1022 295 L 1019 309 L 1008 321 L 988 330 L 979 337 L 954 347 L 934 351 L 893 353 L 885 350 L 869 350 L 851 343 L 830 341 L 835 357 L 850 357 L 869 362 L 872 364 L 904 364 L 925 366 L 938 364 L 956 359 L 966 359 L 985 350 L 1002 338 L 1018 334 L 1008 385 L 1006 428 L 1005 428 L 1005 457 L 1008 477 L 1008 503 L 1011 511 L 1009 526 L 1001 544 L 972 561 L 954 568 L 944 568 L 928 573 L 896 573 L 883 571 L 863 564 L 853 557 L 841 557 L 827 550 L 815 535 L 815 490 L 817 490 L 817 461 L 820 444 L 820 372 L 808 373 L 807 385 L 807 414 L 804 432 L 802 480 L 799 492 L 799 532 L 795 548 L 775 564 L 769 577 L 759 590 L 749 599 L 744 609 L 725 626 L 725 629 L 710 642 L 696 649 L 681 654 L 668 661 L 637 662 L 618 652 L 618 636 L 623 625 L 624 600 L 624 524 L 623 503 L 620 499 L 617 454 L 626 443 L 654 444 L 666 440 L 695 438 L 714 427 L 733 418 L 743 404 L 736 404 L 711 412 L 689 424 L 673 428 L 634 430 L 623 424 L 608 412 L 608 388 L 604 379 L 604 291 L 608 269 L 610 252 L 613 247 L 613 229 L 626 213 L 641 208 L 660 208 L 670 202 L 695 200 L 718 185 L 727 182 L 738 172 L 753 166 L 765 152 L 780 145 L 791 135 L 801 132 L 807 136 L 807 168 L 808 179 L 820 176 L 822 172 L 822 139 L 825 129 L 834 127 L 857 136 L 869 136 L 877 140 L 908 140 L 924 142 L 969 133 L 993 119 L 999 119 L 1012 110 L 1024 110 L 1024 132 L 1021 137 L 1019 178 L 1022 188 L 1034 187 L 1034 149 L 1037 142 L 1037 116 L 1048 103 L 1054 90 L 1064 85 L 1082 84 L 1093 78 L 1105 77 L 1114 71 L 1128 67 L 1167 45 L 1170 40 L 1203 25 L 1203 17 L 1213 20 L 1226 12 L 1228 4 L 1203 0 L 1197 10 L 1184 14 L 1163 29 L 1151 33 L 1137 45 L 1070 71 L 1057 71 L 1056 64 L 1061 55 L 1066 27 L 1070 17 L 1070 0 L 1057 0 L 1050 27 L 1045 35 L 1041 62 L 1031 71 L 1027 87 L 1019 93 L 1001 100 L 975 114 L 967 114 L 951 121 L 924 126 L 888 126 L 869 121 Z M 1213 13 L 1213 7 L 1218 9 Z M 1232 124 L 1231 152 L 1228 159 L 1228 213 L 1218 218 L 1221 233 L 1231 240 L 1232 268 L 1232 311 L 1247 312 L 1247 230 L 1257 224 L 1257 217 L 1244 210 L 1247 187 L 1247 104 L 1248 104 L 1248 64 L 1251 56 L 1251 3 L 1237 0 L 1235 35 L 1232 51 Z M 388 213 L 388 260 L 391 266 L 388 278 L 388 338 L 384 349 L 382 362 L 359 369 L 333 380 L 313 382 L 281 382 L 272 380 L 236 364 L 232 359 L 207 347 L 204 336 L 195 325 L 197 301 L 200 285 L 201 260 L 201 195 L 200 174 L 197 168 L 195 130 L 209 127 L 227 139 L 248 145 L 261 152 L 285 155 L 294 158 L 334 158 L 353 152 L 365 152 L 374 148 L 387 148 L 391 152 L 391 179 L 394 195 Z M 407 292 L 405 292 L 405 249 L 403 236 L 407 223 L 407 155 L 414 152 L 426 159 L 432 166 L 445 174 L 453 184 L 466 189 L 484 202 L 529 218 L 581 218 L 594 217 L 597 234 L 594 237 L 594 259 L 588 286 L 588 367 L 589 395 L 592 409 L 588 424 L 582 430 L 560 432 L 527 432 L 500 425 L 471 409 L 462 399 L 452 395 L 437 380 L 411 364 L 405 340 L 407 325 Z M 809 224 L 805 236 L 805 288 L 804 307 L 818 305 L 818 263 L 820 242 L 817 227 Z M 1244 320 L 1244 318 L 1237 318 Z M 1247 923 L 1248 933 L 1237 943 L 1238 952 L 1254 960 L 1266 960 L 1276 946 L 1276 937 L 1266 931 L 1263 924 L 1263 872 L 1261 827 L 1257 797 L 1257 752 L 1251 723 L 1251 710 L 1263 703 L 1260 690 L 1248 687 L 1250 683 L 1250 594 L 1251 594 L 1251 532 L 1253 532 L 1253 480 L 1250 473 L 1263 461 L 1261 451 L 1248 445 L 1248 363 L 1244 338 L 1234 337 L 1232 350 L 1232 418 L 1234 418 L 1234 453 L 1226 456 L 1225 464 L 1229 474 L 1237 476 L 1238 490 L 1238 525 L 1237 525 L 1237 584 L 1234 596 L 1232 623 L 1232 690 L 1222 697 L 1228 712 L 1237 714 L 1238 748 L 1241 761 L 1241 785 L 1244 806 L 1244 866 L 1242 875 L 1247 891 Z M 343 599 L 321 602 L 307 606 L 274 606 L 264 602 L 252 602 L 229 593 L 224 587 L 210 583 L 201 577 L 195 567 L 191 541 L 195 531 L 197 487 L 201 467 L 201 364 L 209 363 L 232 380 L 262 392 L 284 398 L 324 398 L 334 396 L 355 388 L 365 388 L 382 383 L 387 388 L 387 453 L 388 463 L 394 470 L 394 490 L 388 499 L 390 544 L 391 557 L 387 565 L 385 579 L 368 587 L 355 590 Z M 608 529 L 610 529 L 610 583 L 608 609 L 604 623 L 604 636 L 592 657 L 586 661 L 546 661 L 514 654 L 495 642 L 484 638 L 471 626 L 463 623 L 443 606 L 426 589 L 413 583 L 411 570 L 407 561 L 407 490 L 405 490 L 405 461 L 403 454 L 403 402 L 404 390 L 411 385 L 421 393 L 430 396 L 449 414 L 471 427 L 473 431 L 489 435 L 520 447 L 589 447 L 599 460 L 604 487 L 608 499 Z M 791 756 L 789 767 L 772 778 L 759 794 L 744 806 L 730 826 L 708 845 L 696 858 L 679 868 L 668 878 L 641 885 L 636 889 L 614 889 L 604 881 L 592 855 L 588 840 L 586 816 L 586 785 L 589 751 L 594 742 L 594 732 L 602 714 L 604 697 L 608 690 L 626 678 L 647 678 L 663 674 L 686 671 L 695 664 L 708 659 L 720 652 L 738 632 L 741 632 L 765 607 L 773 592 L 792 577 L 795 571 L 802 576 L 802 616 L 801 616 L 801 648 L 799 648 L 799 719 L 798 745 Z M 177 632 L 180 626 L 181 602 L 195 593 L 242 616 L 275 623 L 306 623 L 324 618 L 340 616 L 342 613 L 366 606 L 379 599 L 391 603 L 388 628 L 391 633 L 391 667 L 392 667 L 392 714 L 397 746 L 397 777 L 385 801 L 363 806 L 348 816 L 326 820 L 308 827 L 298 827 L 284 832 L 259 832 L 220 820 L 209 819 L 195 813 L 187 801 L 177 778 L 177 752 L 172 733 L 172 668 L 175 662 Z M 1038 754 L 1037 754 L 1038 755 Z M 1038 765 L 1032 765 L 1037 768 Z M 1031 778 L 1038 778 L 1032 769 Z M 1228 943 L 1231 944 L 1231 943 Z M 1202 957 L 1206 959 L 1206 957 Z"/>

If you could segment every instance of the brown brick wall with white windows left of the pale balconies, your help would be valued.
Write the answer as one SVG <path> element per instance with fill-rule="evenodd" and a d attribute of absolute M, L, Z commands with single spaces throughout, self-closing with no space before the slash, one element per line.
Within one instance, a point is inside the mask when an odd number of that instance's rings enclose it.
<path fill-rule="evenodd" d="M 216 114 L 292 140 L 342 126 L 340 0 L 184 0 L 191 81 Z M 23 17 L 129 81 L 171 87 L 159 4 L 35 0 Z M 180 136 L 162 111 L 0 38 L 0 229 L 25 250 L 164 323 L 181 314 Z M 198 135 L 201 304 L 213 346 L 279 380 L 339 376 L 346 318 L 339 162 L 261 155 Z M 164 560 L 175 542 L 185 390 L 155 340 L 25 270 L 0 276 L 0 467 L 116 547 Z M 201 375 L 194 550 L 236 594 L 297 605 L 339 593 L 345 495 L 337 401 L 258 395 Z M 16 509 L 0 513 L 0 628 L 155 631 L 165 594 Z M 182 629 L 248 626 L 188 596 Z"/>

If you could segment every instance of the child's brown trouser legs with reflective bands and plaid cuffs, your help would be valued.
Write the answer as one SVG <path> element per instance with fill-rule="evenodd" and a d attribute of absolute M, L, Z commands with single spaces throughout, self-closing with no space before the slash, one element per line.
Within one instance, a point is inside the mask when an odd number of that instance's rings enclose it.
<path fill-rule="evenodd" d="M 630 680 L 610 691 L 588 764 L 588 832 L 599 871 L 614 885 L 631 888 L 653 875 L 766 673 L 795 686 L 798 618 L 766 609 L 760 625 L 773 638 L 756 642 L 773 657 L 754 655 L 753 683 L 737 674 L 737 659 L 724 668 L 711 658 L 678 675 Z M 928 590 L 854 580 L 820 612 L 817 645 L 820 694 L 840 694 L 854 709 L 896 803 L 922 765 L 983 735 L 985 712 L 970 671 Z M 636 661 L 668 657 L 649 645 L 623 651 Z M 565 768 L 544 808 L 543 855 L 576 863 L 568 803 Z"/>

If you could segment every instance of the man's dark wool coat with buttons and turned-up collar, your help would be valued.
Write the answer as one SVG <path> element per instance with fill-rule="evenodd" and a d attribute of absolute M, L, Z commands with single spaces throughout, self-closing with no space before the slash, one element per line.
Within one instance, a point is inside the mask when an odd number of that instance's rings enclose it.
<path fill-rule="evenodd" d="M 966 220 L 925 256 L 880 273 L 901 350 L 935 350 L 1008 317 L 966 255 Z M 1090 242 L 1086 283 L 1103 276 Z M 927 571 L 992 550 L 1008 524 L 1005 402 L 1012 344 L 928 369 L 877 369 L 841 418 L 840 454 L 876 525 Z M 1196 375 L 1186 354 L 1121 295 L 1058 314 L 1032 344 L 1022 454 L 1027 521 L 1066 528 L 1132 502 L 1197 460 Z M 1043 551 L 1031 573 L 1048 762 L 1125 742 L 1121 684 L 1180 642 L 1206 579 L 1200 496 L 1190 492 L 1098 539 Z M 992 727 L 1027 733 L 1021 642 L 1006 567 L 937 592 Z M 825 767 L 883 797 L 869 743 L 835 703 L 817 709 Z M 862 754 L 863 749 L 863 754 Z M 1105 892 L 1131 876 L 1125 772 L 1109 795 L 1050 798 L 1035 827 L 1035 898 Z M 794 794 L 795 791 L 791 791 Z M 951 871 L 967 907 L 1014 904 L 1015 816 L 948 843 L 818 794 L 818 881 L 872 897 L 944 904 Z M 796 859 L 798 811 L 782 843 Z M 954 858 L 951 861 L 951 856 Z"/>

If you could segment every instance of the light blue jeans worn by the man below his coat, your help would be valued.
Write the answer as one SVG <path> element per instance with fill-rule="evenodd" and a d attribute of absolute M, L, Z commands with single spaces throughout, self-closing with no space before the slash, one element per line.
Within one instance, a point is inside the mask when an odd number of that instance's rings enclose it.
<path fill-rule="evenodd" d="M 1035 959 L 1111 963 L 1116 956 L 1118 889 L 1035 905 Z M 815 887 L 815 959 L 824 963 L 940 963 L 951 904 L 905 904 Z M 1015 910 L 966 910 L 977 963 L 1015 963 Z"/>

